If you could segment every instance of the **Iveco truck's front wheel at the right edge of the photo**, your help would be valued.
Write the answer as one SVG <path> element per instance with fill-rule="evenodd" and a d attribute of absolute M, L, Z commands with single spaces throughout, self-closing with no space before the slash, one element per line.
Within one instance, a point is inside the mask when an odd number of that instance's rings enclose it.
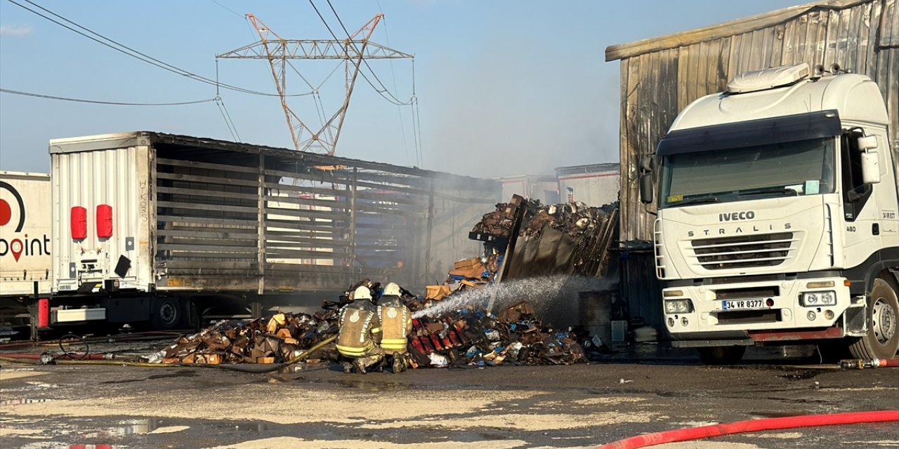
<path fill-rule="evenodd" d="M 895 357 L 899 348 L 899 331 L 896 330 L 899 319 L 899 298 L 895 279 L 889 273 L 874 279 L 871 295 L 868 296 L 868 334 L 853 339 L 850 344 L 852 357 L 862 360 L 874 358 L 890 359 Z"/>

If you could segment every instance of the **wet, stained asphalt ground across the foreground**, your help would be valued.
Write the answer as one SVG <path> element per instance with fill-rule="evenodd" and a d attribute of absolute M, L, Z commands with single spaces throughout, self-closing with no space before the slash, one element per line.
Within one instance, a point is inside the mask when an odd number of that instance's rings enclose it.
<path fill-rule="evenodd" d="M 743 365 L 716 367 L 640 345 L 590 365 L 365 375 L 327 363 L 272 374 L 3 363 L 0 447 L 592 447 L 719 422 L 899 409 L 897 368 L 839 371 L 779 351 L 752 348 Z M 899 422 L 655 447 L 899 447 Z"/>

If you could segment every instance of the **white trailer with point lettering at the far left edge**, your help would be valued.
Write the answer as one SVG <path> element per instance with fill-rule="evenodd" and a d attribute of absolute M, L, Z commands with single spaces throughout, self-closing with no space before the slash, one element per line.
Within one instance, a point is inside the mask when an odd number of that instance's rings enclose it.
<path fill-rule="evenodd" d="M 50 178 L 0 172 L 0 325 L 27 321 L 50 290 Z"/>

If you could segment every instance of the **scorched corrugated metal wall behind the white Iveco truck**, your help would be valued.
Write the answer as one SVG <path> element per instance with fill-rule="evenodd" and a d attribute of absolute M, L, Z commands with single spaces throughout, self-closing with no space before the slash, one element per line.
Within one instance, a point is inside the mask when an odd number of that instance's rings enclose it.
<path fill-rule="evenodd" d="M 808 63 L 870 76 L 890 118 L 899 154 L 899 0 L 835 1 L 634 44 L 610 47 L 621 60 L 621 240 L 652 240 L 654 216 L 639 200 L 637 163 L 654 152 L 678 111 L 721 92 L 743 72 Z M 747 31 L 752 25 L 759 27 Z M 727 28 L 734 30 L 728 33 Z M 712 36 L 705 38 L 703 36 Z M 667 43 L 671 45 L 666 45 Z"/>

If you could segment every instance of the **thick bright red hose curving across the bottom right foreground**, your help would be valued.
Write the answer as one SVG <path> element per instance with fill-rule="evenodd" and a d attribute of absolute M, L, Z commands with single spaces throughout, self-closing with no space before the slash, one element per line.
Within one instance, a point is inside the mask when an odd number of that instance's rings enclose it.
<path fill-rule="evenodd" d="M 899 410 L 859 411 L 851 413 L 833 413 L 829 415 L 752 419 L 749 421 L 717 424 L 715 426 L 687 427 L 677 430 L 655 432 L 654 434 L 631 436 L 607 445 L 598 446 L 598 449 L 637 449 L 652 445 L 663 445 L 665 443 L 698 440 L 701 438 L 708 438 L 709 436 L 759 432 L 761 430 L 892 421 L 899 421 Z"/>

